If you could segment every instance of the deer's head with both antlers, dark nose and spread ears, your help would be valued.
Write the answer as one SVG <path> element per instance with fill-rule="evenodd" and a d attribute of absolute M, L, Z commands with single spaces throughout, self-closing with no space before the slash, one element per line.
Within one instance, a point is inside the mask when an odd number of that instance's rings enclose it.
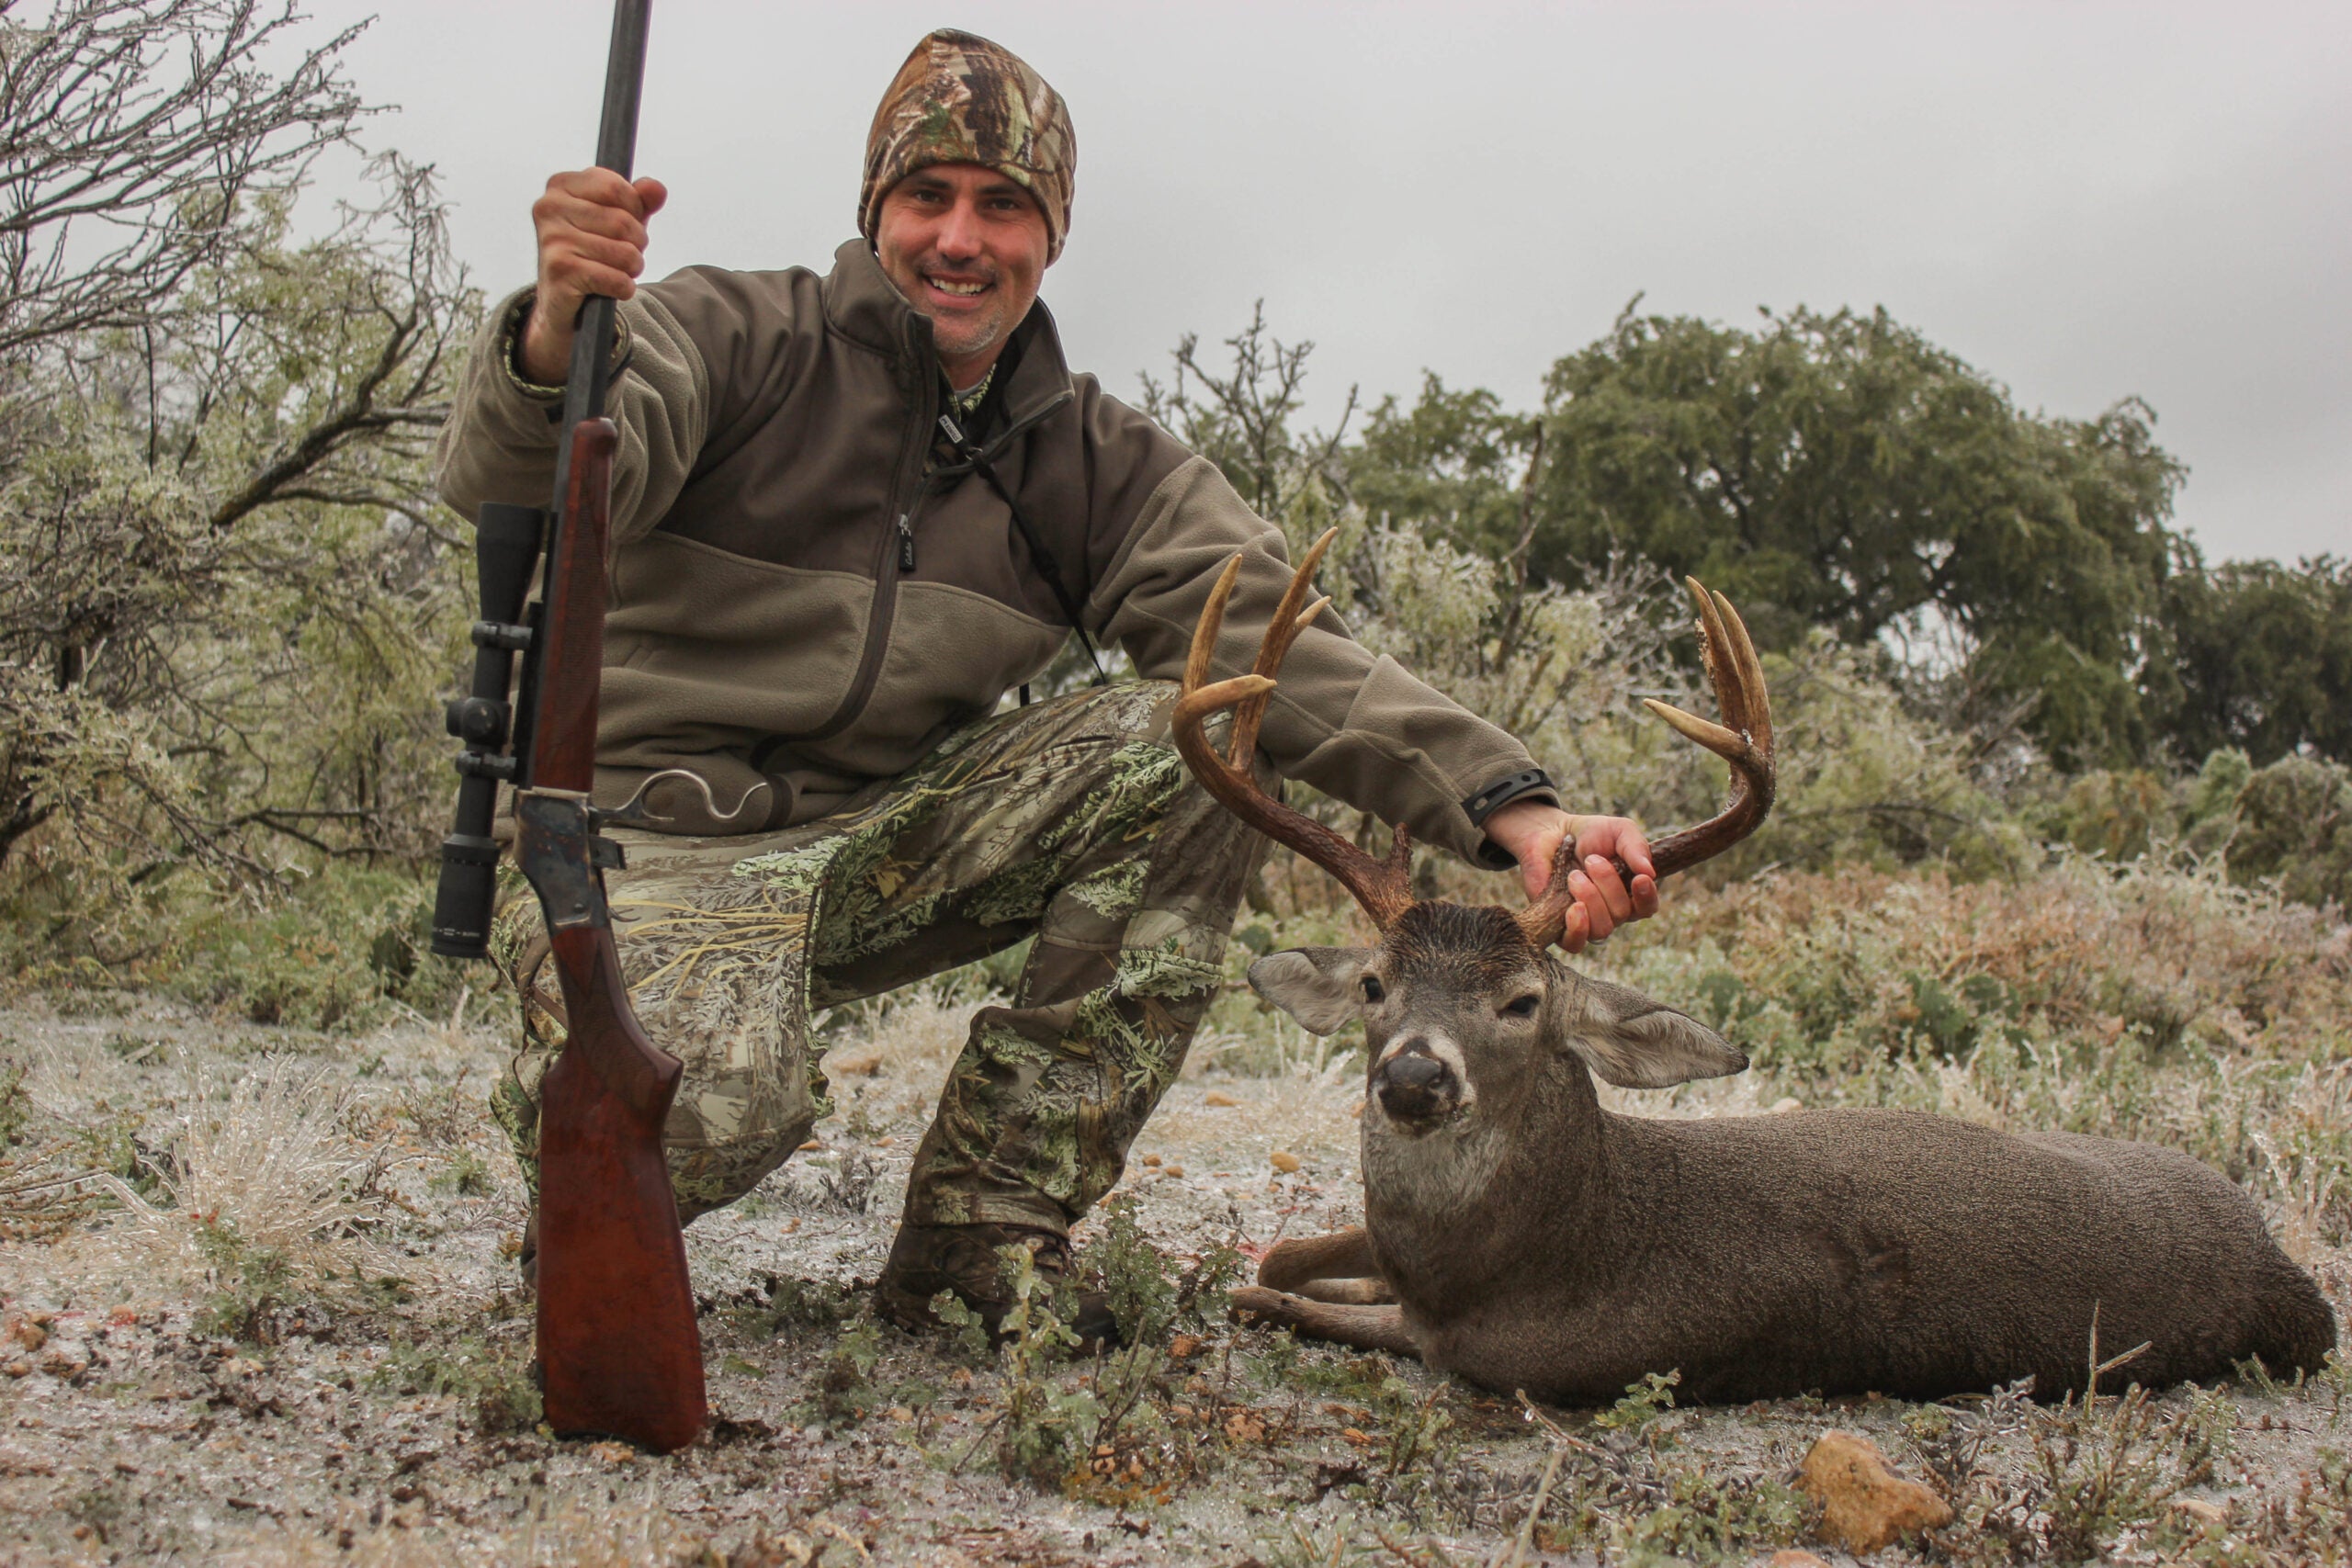
<path fill-rule="evenodd" d="M 1315 541 L 1291 576 L 1256 668 L 1209 682 L 1209 654 L 1242 557 L 1225 567 L 1195 628 L 1174 715 L 1176 750 L 1192 776 L 1244 823 L 1334 875 L 1381 933 L 1371 947 L 1270 952 L 1251 964 L 1251 987 L 1317 1034 L 1362 1018 L 1371 1053 L 1367 1095 L 1381 1121 L 1404 1135 L 1456 1126 L 1482 1098 L 1522 1100 L 1531 1084 L 1550 1077 L 1562 1053 L 1625 1088 L 1740 1072 L 1748 1058 L 1705 1025 L 1621 985 L 1578 976 L 1552 952 L 1571 903 L 1573 842 L 1559 846 L 1550 886 L 1524 910 L 1418 900 L 1404 827 L 1395 830 L 1395 846 L 1381 860 L 1258 788 L 1249 757 L 1268 693 L 1291 642 L 1331 602 L 1308 604 L 1308 581 L 1336 534 L 1331 529 Z M 1658 701 L 1646 705 L 1675 731 L 1731 762 L 1731 799 L 1705 823 L 1651 844 L 1658 877 L 1748 837 L 1773 797 L 1771 705 L 1755 644 L 1722 595 L 1696 581 L 1689 588 L 1724 724 Z M 1218 755 L 1204 722 L 1228 708 L 1232 733 Z M 1618 872 L 1625 875 L 1623 863 Z M 1583 1072 L 1576 1079 L 1590 1095 Z"/>

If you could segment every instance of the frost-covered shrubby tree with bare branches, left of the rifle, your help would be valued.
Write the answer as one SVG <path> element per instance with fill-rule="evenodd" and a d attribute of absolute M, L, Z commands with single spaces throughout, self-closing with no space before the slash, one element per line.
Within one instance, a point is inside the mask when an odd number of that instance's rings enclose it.
<path fill-rule="evenodd" d="M 294 233 L 362 113 L 350 33 L 296 21 L 0 16 L 0 877 L 82 950 L 132 952 L 181 870 L 421 858 L 447 797 L 463 555 L 428 447 L 480 303 L 395 158 Z"/>

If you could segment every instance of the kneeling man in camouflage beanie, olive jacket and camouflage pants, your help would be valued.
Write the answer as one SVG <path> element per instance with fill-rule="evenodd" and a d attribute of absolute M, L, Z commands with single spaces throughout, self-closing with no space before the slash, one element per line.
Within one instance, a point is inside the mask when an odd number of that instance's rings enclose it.
<path fill-rule="evenodd" d="M 661 830 L 626 835 L 612 903 L 637 1013 L 687 1065 L 666 1128 L 687 1218 L 750 1192 L 828 1110 L 811 1006 L 1035 938 L 915 1154 L 882 1279 L 901 1321 L 938 1291 L 995 1321 L 1004 1246 L 1065 1269 L 1070 1222 L 1183 1063 L 1263 851 L 1176 759 L 1167 682 L 1235 552 L 1218 665 L 1249 665 L 1282 534 L 1063 364 L 1037 287 L 1073 172 L 1061 94 L 941 31 L 875 113 L 861 237 L 826 277 L 687 268 L 637 289 L 661 183 L 557 174 L 534 205 L 539 282 L 485 327 L 442 435 L 452 505 L 543 498 L 574 315 L 623 301 L 597 802 L 642 792 Z M 1145 679 L 997 712 L 1073 628 Z M 1529 893 L 1573 832 L 1571 950 L 1656 910 L 1632 823 L 1566 816 L 1517 741 L 1329 616 L 1261 745 L 1425 844 L 1517 863 Z M 510 905 L 527 1044 L 494 1110 L 524 1171 L 562 1039 L 543 952 L 536 910 Z"/>

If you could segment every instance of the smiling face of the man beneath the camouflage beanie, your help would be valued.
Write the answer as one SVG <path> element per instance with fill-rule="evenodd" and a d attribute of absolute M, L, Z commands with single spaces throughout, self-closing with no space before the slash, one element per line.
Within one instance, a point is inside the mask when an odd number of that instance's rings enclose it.
<path fill-rule="evenodd" d="M 1037 299 L 1044 214 L 995 169 L 931 165 L 882 197 L 875 256 L 908 303 L 931 317 L 948 378 L 971 386 Z"/>

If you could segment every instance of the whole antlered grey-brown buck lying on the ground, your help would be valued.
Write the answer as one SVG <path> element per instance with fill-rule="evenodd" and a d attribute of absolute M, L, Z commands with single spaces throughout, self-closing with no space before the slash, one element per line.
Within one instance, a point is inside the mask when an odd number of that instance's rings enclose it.
<path fill-rule="evenodd" d="M 1668 1088 L 1748 1058 L 1562 961 L 1573 842 L 1522 910 L 1421 900 L 1402 827 L 1376 858 L 1251 771 L 1282 656 L 1329 604 L 1305 604 L 1329 541 L 1303 557 L 1254 670 L 1211 682 L 1228 564 L 1174 710 L 1192 776 L 1338 879 L 1378 931 L 1249 969 L 1315 1034 L 1364 1025 L 1364 1225 L 1272 1246 L 1237 1316 L 1562 1406 L 1609 1403 L 1649 1373 L 1724 1403 L 1943 1399 L 2020 1378 L 2056 1399 L 2098 1392 L 2103 1373 L 2169 1387 L 2256 1359 L 2319 1368 L 2336 1345 L 2319 1286 L 2234 1182 L 2183 1152 L 1910 1110 L 1604 1110 L 1595 1077 Z M 1773 799 L 1762 661 L 1731 602 L 1689 588 L 1722 724 L 1649 708 L 1724 757 L 1731 790 L 1715 818 L 1651 844 L 1661 879 L 1731 849 Z M 1207 733 L 1221 712 L 1223 752 Z M 2100 1345 L 2131 1349 L 2100 1361 Z"/>

